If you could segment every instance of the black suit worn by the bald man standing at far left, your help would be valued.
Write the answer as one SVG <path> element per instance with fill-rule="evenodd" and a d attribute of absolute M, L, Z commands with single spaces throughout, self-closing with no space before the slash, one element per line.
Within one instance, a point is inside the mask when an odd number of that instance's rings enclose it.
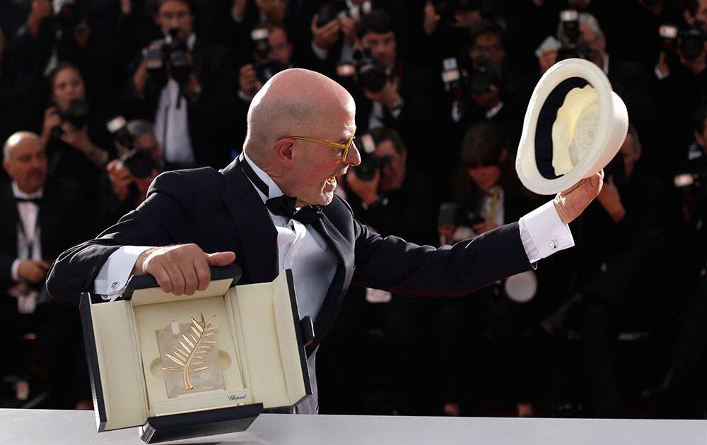
<path fill-rule="evenodd" d="M 32 372 L 33 360 L 38 360 L 47 373 L 40 376 L 49 391 L 49 408 L 74 408 L 76 402 L 90 398 L 86 360 L 83 360 L 81 323 L 75 308 L 52 301 L 44 283 L 30 285 L 40 293 L 32 314 L 19 314 L 15 297 L 6 294 L 16 285 L 11 275 L 13 261 L 18 258 L 18 223 L 20 216 L 11 182 L 0 188 L 0 332 L 13 339 L 11 352 L 3 360 L 3 371 L 26 377 Z M 37 216 L 41 230 L 42 259 L 51 263 L 66 247 L 86 239 L 88 210 L 83 205 L 76 182 L 49 180 Z M 23 333 L 36 333 L 37 346 L 21 340 Z M 36 364 L 36 363 L 35 363 Z"/>

